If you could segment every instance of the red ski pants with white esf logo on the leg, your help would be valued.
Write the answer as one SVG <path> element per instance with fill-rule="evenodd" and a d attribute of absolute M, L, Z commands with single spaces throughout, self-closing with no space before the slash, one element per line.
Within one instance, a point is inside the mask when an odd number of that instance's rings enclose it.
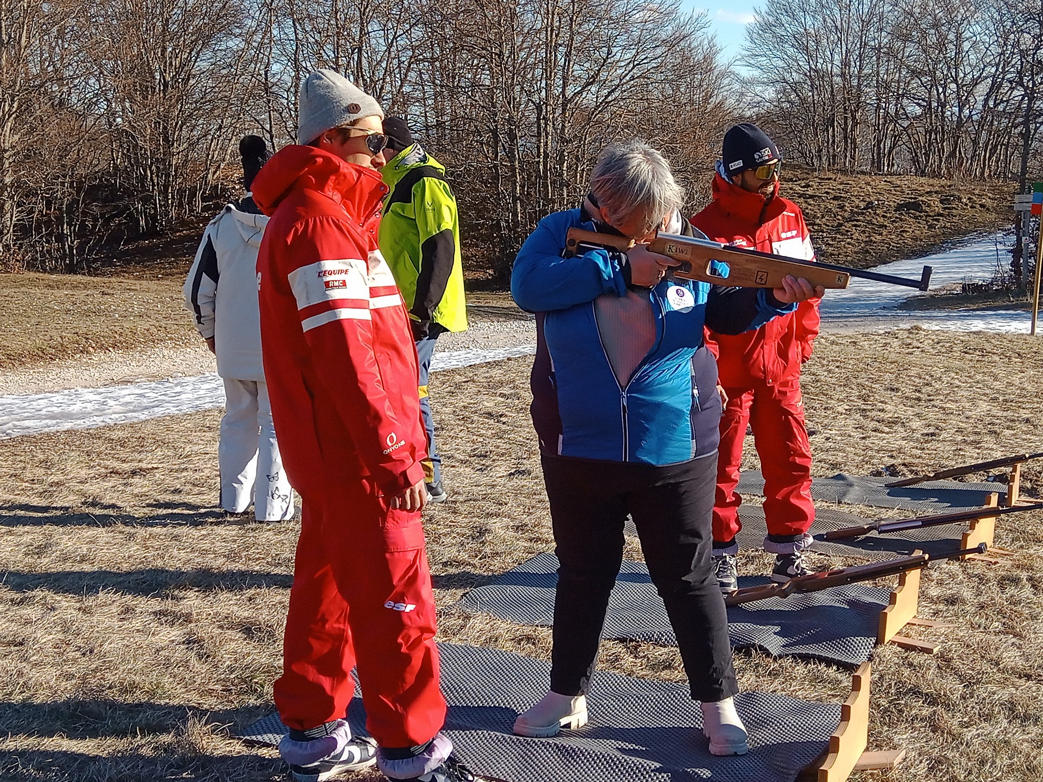
<path fill-rule="evenodd" d="M 422 744 L 445 722 L 445 700 L 420 514 L 389 510 L 363 481 L 302 499 L 280 716 L 296 730 L 343 717 L 358 666 L 377 742 Z"/>

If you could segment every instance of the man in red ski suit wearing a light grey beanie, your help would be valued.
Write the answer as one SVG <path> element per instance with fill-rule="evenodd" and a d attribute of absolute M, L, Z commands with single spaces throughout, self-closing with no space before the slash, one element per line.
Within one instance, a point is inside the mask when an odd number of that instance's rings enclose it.
<path fill-rule="evenodd" d="M 300 145 L 253 180 L 261 338 L 286 471 L 302 502 L 280 753 L 301 782 L 377 762 L 390 779 L 471 779 L 439 731 L 435 604 L 420 511 L 427 436 L 409 316 L 377 247 L 384 114 L 333 71 L 300 90 Z M 367 730 L 345 716 L 358 677 Z"/>

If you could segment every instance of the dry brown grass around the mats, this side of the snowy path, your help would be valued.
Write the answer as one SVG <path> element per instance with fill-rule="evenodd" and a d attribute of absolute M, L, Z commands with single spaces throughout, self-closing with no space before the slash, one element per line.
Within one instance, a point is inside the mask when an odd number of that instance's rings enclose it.
<path fill-rule="evenodd" d="M 1019 373 L 1005 372 L 1016 366 Z M 528 361 L 440 373 L 433 400 L 451 499 L 430 514 L 445 640 L 547 658 L 550 632 L 452 608 L 463 591 L 552 546 Z M 826 336 L 807 367 L 817 474 L 942 467 L 1043 441 L 1039 348 L 1026 337 Z M 271 751 L 228 738 L 270 703 L 294 523 L 212 508 L 216 413 L 0 441 L 0 739 L 3 780 L 269 780 Z M 756 463 L 751 454 L 749 466 Z M 1040 468 L 1028 470 L 1040 486 Z M 912 631 L 935 657 L 879 650 L 877 749 L 895 773 L 859 780 L 1035 782 L 1043 777 L 1043 514 L 1001 522 L 1009 563 L 924 575 Z M 639 557 L 631 543 L 628 556 Z M 823 560 L 825 561 L 825 560 Z M 742 566 L 766 566 L 749 554 Z M 681 681 L 676 650 L 607 642 L 603 666 Z M 742 685 L 836 702 L 847 673 L 736 659 Z M 372 778 L 372 777 L 368 777 Z"/>

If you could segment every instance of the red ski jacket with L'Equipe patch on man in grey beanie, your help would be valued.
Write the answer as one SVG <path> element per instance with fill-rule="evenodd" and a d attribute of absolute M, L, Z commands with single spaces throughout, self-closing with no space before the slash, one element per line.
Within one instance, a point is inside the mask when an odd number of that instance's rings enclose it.
<path fill-rule="evenodd" d="M 377 171 L 288 146 L 253 180 L 271 216 L 258 255 L 261 343 L 290 483 L 302 495 L 423 478 L 427 436 L 409 316 L 377 248 Z"/>

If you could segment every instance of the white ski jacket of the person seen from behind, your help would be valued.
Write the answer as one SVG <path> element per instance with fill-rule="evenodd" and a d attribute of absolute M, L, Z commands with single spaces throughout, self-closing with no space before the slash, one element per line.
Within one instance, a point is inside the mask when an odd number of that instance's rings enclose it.
<path fill-rule="evenodd" d="M 252 199 L 242 206 L 253 207 Z M 202 338 L 215 338 L 222 377 L 264 380 L 257 260 L 267 223 L 265 215 L 229 203 L 203 231 L 185 280 L 185 301 Z"/>

